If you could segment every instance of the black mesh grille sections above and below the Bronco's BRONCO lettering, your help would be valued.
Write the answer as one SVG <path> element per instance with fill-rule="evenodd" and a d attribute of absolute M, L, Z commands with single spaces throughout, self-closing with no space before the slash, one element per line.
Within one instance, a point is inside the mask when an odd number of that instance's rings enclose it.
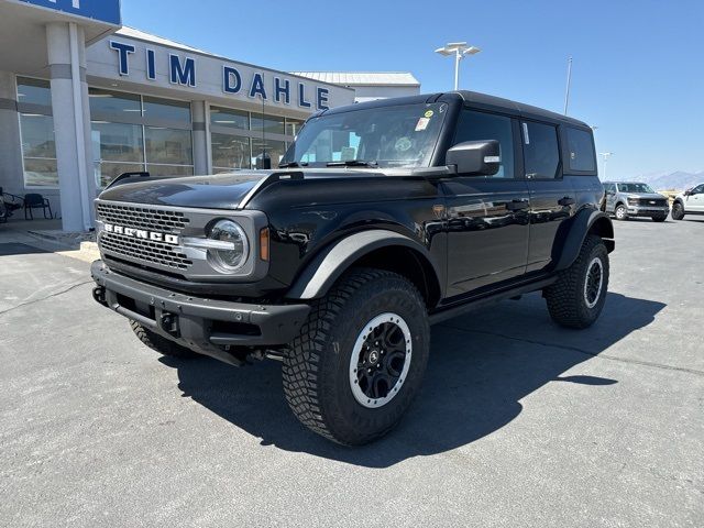
<path fill-rule="evenodd" d="M 123 228 L 142 229 L 150 232 L 179 234 L 190 220 L 180 211 L 129 205 L 98 204 L 98 219 L 105 223 Z M 193 265 L 178 248 L 153 240 L 138 239 L 121 233 L 102 231 L 98 244 L 105 252 L 184 271 Z"/>

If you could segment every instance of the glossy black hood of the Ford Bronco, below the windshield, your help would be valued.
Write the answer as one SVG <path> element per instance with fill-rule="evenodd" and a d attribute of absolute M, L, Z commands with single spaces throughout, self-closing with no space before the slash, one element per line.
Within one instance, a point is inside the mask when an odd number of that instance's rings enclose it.
<path fill-rule="evenodd" d="M 248 194 L 273 173 L 243 170 L 186 178 L 133 178 L 103 190 L 99 199 L 172 207 L 239 209 Z"/>

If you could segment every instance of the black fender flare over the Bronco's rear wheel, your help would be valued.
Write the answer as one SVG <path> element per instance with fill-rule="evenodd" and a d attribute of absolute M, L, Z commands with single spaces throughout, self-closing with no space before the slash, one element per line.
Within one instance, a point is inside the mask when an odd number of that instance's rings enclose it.
<path fill-rule="evenodd" d="M 614 223 L 608 215 L 598 210 L 583 209 L 574 216 L 571 222 L 563 222 L 558 231 L 556 248 L 561 248 L 561 251 L 558 255 L 554 255 L 557 256 L 553 260 L 553 262 L 557 262 L 556 272 L 566 270 L 576 261 L 582 244 L 591 232 L 604 239 L 609 253 L 616 249 Z"/>

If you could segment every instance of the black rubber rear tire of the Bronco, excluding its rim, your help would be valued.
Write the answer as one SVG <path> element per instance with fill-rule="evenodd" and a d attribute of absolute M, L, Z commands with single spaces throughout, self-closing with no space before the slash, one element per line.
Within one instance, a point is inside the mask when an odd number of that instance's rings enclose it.
<path fill-rule="evenodd" d="M 594 306 L 590 307 L 586 300 L 585 284 L 587 272 L 595 258 L 601 261 L 602 284 Z M 598 319 L 606 301 L 608 272 L 608 251 L 604 241 L 600 237 L 587 235 L 576 261 L 560 273 L 556 283 L 543 290 L 552 320 L 565 328 L 591 327 Z"/>

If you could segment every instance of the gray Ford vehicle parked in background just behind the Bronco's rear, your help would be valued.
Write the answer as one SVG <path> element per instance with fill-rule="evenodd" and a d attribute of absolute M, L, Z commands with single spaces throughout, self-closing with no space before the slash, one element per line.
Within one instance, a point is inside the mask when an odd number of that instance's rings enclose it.
<path fill-rule="evenodd" d="M 668 197 L 656 193 L 648 184 L 638 182 L 614 182 L 604 184 L 603 211 L 614 215 L 616 220 L 630 217 L 650 217 L 664 222 L 670 213 Z"/>

